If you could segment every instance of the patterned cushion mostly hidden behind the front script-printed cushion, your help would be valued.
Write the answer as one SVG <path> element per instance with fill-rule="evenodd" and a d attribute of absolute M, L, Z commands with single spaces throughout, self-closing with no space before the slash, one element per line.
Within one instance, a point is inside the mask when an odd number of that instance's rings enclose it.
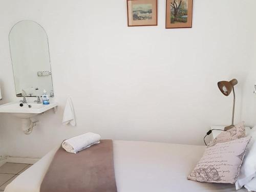
<path fill-rule="evenodd" d="M 211 143 L 210 145 L 215 144 L 215 143 L 227 142 L 227 141 L 231 141 L 231 140 L 234 140 L 234 139 L 240 139 L 240 138 L 243 138 L 243 137 L 245 137 L 244 121 L 237 124 L 232 129 L 219 134 L 215 138 L 213 143 Z"/>

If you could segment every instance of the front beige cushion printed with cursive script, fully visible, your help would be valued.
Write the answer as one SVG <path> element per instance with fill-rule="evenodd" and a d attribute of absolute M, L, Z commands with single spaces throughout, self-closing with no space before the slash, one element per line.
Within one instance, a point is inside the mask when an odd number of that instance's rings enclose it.
<path fill-rule="evenodd" d="M 187 178 L 208 183 L 235 183 L 249 141 L 250 137 L 246 137 L 207 147 Z"/>

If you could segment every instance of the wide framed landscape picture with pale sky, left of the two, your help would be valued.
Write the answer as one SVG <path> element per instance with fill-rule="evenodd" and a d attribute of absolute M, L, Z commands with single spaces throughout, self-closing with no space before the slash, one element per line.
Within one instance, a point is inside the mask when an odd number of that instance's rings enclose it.
<path fill-rule="evenodd" d="M 157 0 L 126 1 L 128 27 L 157 25 Z"/>

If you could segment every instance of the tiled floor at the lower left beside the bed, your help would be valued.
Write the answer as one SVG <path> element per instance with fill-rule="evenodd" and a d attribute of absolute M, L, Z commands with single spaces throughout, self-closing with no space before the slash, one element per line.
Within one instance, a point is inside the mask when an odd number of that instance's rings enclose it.
<path fill-rule="evenodd" d="M 19 174 L 29 168 L 31 164 L 21 163 L 5 163 L 0 167 L 0 192 L 5 190 L 5 187 L 14 180 Z"/>

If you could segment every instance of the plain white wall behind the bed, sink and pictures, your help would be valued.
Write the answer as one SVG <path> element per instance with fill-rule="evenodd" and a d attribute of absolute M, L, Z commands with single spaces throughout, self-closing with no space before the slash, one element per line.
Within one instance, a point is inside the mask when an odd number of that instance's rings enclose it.
<path fill-rule="evenodd" d="M 194 0 L 193 28 L 165 29 L 164 0 L 158 2 L 157 27 L 130 28 L 125 1 L 1 0 L 2 103 L 16 99 L 8 33 L 23 19 L 48 33 L 59 102 L 58 114 L 39 116 L 31 135 L 20 131 L 18 119 L 0 114 L 2 153 L 40 157 L 63 139 L 89 131 L 119 140 L 203 144 L 210 125 L 231 121 L 232 96 L 223 96 L 217 82 L 234 77 L 235 121 L 243 117 L 252 125 L 242 95 L 255 99 L 256 78 L 247 78 L 256 60 L 255 6 L 254 0 Z M 61 124 L 68 96 L 77 127 Z"/>

